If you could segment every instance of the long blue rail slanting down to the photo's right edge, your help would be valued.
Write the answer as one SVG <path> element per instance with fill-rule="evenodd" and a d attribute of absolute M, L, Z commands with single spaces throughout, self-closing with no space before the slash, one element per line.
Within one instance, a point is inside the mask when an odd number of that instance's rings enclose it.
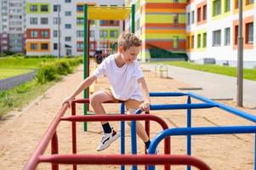
<path fill-rule="evenodd" d="M 228 111 L 228 112 L 230 112 L 230 113 L 233 113 L 233 114 L 235 114 L 236 116 L 241 116 L 242 118 L 245 118 L 245 119 L 247 119 L 247 120 L 249 120 L 249 121 L 256 122 L 256 116 L 250 115 L 250 114 L 248 114 L 248 113 L 246 113 L 246 112 L 244 112 L 244 111 L 238 111 L 238 110 L 236 110 L 236 109 L 234 109 L 234 108 L 231 108 L 231 107 L 229 107 L 229 106 L 227 106 L 227 105 L 219 104 L 218 102 L 215 102 L 215 101 L 213 101 L 213 100 L 211 100 L 211 99 L 204 98 L 204 97 L 199 96 L 199 95 L 197 95 L 197 94 L 192 94 L 192 93 L 188 93 L 188 94 L 189 94 L 192 98 L 199 99 L 199 100 L 201 100 L 201 101 L 203 101 L 203 102 L 206 102 L 206 103 L 208 103 L 208 104 L 218 105 L 218 107 L 219 107 L 220 109 L 223 109 L 224 111 Z"/>

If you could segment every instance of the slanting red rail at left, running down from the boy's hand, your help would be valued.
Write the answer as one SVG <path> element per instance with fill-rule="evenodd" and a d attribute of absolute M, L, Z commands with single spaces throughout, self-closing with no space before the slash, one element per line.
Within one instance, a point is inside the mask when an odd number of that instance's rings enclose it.
<path fill-rule="evenodd" d="M 48 127 L 48 130 L 46 131 L 46 133 L 43 135 L 43 139 L 37 145 L 37 149 L 31 155 L 31 158 L 27 162 L 24 170 L 32 170 L 37 167 L 37 163 L 39 161 L 39 156 L 43 155 L 43 152 L 46 150 L 47 145 L 48 145 L 50 139 L 52 139 L 52 137 L 54 136 L 56 127 L 58 126 L 58 124 L 60 122 L 60 117 L 62 117 L 65 114 L 65 111 L 67 110 L 67 108 L 68 108 L 67 104 L 63 105 L 63 107 L 60 109 L 58 114 L 55 116 L 54 121 Z"/>

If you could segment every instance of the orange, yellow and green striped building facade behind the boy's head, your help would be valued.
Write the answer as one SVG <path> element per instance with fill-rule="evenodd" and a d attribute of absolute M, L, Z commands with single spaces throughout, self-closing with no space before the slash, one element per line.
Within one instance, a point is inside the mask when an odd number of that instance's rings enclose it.
<path fill-rule="evenodd" d="M 186 1 L 126 1 L 126 5 L 131 4 L 136 4 L 135 32 L 143 42 L 139 58 L 142 61 L 185 58 Z"/>

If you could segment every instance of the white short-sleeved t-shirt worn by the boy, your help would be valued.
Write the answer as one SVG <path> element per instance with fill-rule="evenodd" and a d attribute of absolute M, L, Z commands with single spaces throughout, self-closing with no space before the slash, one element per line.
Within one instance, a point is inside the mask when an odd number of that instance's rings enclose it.
<path fill-rule="evenodd" d="M 105 75 L 111 82 L 111 91 L 116 99 L 136 99 L 142 101 L 143 97 L 137 80 L 143 76 L 139 63 L 133 61 L 124 64 L 122 68 L 117 67 L 115 55 L 111 54 L 94 71 L 95 77 Z"/>

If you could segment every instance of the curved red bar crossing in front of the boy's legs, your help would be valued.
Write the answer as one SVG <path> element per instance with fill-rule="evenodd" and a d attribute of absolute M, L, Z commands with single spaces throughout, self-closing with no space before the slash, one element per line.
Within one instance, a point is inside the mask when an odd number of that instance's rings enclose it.
<path fill-rule="evenodd" d="M 104 122 L 104 121 L 155 121 L 162 129 L 168 129 L 168 124 L 162 118 L 154 115 L 88 115 L 88 116 L 65 116 L 62 121 L 71 122 Z M 164 153 L 170 154 L 170 138 L 164 139 Z"/>

